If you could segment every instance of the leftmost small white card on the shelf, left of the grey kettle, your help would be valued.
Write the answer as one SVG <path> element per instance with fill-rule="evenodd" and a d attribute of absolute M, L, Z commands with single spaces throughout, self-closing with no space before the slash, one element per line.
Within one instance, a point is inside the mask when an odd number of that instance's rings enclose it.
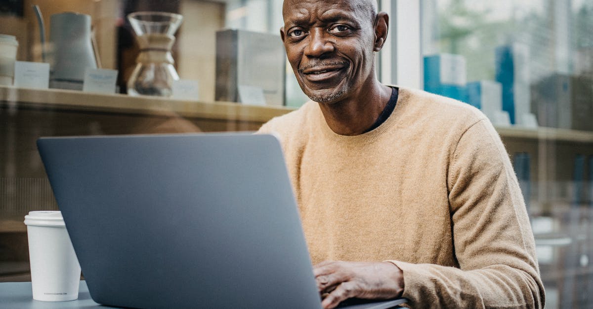
<path fill-rule="evenodd" d="M 49 63 L 14 62 L 14 86 L 20 88 L 49 88 Z"/>

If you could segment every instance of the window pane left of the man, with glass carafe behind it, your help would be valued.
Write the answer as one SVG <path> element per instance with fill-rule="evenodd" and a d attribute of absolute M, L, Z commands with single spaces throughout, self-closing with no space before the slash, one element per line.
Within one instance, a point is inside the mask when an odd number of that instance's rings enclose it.
<path fill-rule="evenodd" d="M 282 23 L 276 0 L 2 2 L 0 281 L 30 281 L 24 215 L 58 209 L 39 137 L 257 130 L 307 101 Z"/>

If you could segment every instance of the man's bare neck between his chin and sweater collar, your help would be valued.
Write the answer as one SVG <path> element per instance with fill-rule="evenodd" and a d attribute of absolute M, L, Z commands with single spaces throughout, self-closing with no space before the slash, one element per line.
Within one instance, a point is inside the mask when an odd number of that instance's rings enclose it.
<path fill-rule="evenodd" d="M 373 81 L 349 98 L 319 106 L 334 133 L 353 136 L 364 133 L 375 123 L 390 97 L 391 88 Z"/>

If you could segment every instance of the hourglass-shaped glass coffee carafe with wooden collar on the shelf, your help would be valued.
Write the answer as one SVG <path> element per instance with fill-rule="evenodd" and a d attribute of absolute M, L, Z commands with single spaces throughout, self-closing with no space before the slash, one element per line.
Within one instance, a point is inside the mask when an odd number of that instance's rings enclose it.
<path fill-rule="evenodd" d="M 127 94 L 170 96 L 173 81 L 179 79 L 171 47 L 183 17 L 167 12 L 134 12 L 127 19 L 140 46 L 136 67 L 127 81 Z"/>

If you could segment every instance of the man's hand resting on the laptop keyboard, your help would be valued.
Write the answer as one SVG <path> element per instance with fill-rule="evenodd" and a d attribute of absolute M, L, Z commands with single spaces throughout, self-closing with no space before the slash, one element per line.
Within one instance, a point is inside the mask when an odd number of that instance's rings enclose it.
<path fill-rule="evenodd" d="M 335 308 L 347 298 L 388 299 L 401 297 L 404 277 L 390 262 L 326 261 L 313 269 L 323 308 Z"/>

